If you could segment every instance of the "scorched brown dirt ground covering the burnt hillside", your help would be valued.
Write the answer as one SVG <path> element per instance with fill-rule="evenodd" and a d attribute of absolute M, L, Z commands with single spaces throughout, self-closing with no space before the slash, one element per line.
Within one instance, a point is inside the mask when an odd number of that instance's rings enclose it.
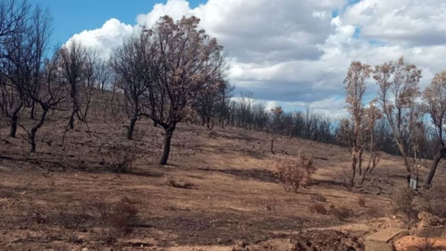
<path fill-rule="evenodd" d="M 136 140 L 126 140 L 125 116 L 99 110 L 89 115 L 88 126 L 78 122 L 68 131 L 64 142 L 67 121 L 51 115 L 34 154 L 24 131 L 10 138 L 7 126 L 1 129 L 0 250 L 247 250 L 241 242 L 249 250 L 362 250 L 367 234 L 406 227 L 389 199 L 404 183 L 398 157 L 384 155 L 364 186 L 349 192 L 347 149 L 282 137 L 272 154 L 264 133 L 180 124 L 170 165 L 159 166 L 160 128 L 142 119 Z M 115 173 L 110 164 L 121 150 L 133 156 L 129 173 Z M 318 171 L 309 189 L 287 193 L 274 172 L 280 160 L 299 153 L 311 155 Z M 420 176 L 426 172 L 421 168 Z M 172 187 L 169 180 L 189 186 Z M 434 186 L 445 181 L 440 167 Z M 137 222 L 106 243 L 104 225 L 86 205 L 112 207 L 123 198 L 137 209 Z M 315 203 L 328 212 L 314 212 Z M 340 219 L 333 208 L 348 216 Z"/>

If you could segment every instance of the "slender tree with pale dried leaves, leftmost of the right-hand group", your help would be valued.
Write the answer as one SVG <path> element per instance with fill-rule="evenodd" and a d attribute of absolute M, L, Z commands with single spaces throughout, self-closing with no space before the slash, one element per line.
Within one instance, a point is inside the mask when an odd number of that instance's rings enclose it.
<path fill-rule="evenodd" d="M 346 102 L 347 110 L 350 113 L 350 122 L 344 121 L 343 128 L 347 136 L 347 142 L 352 158 L 352 174 L 350 187 L 354 186 L 356 168 L 360 172 L 362 166 L 362 153 L 364 151 L 364 93 L 365 81 L 370 77 L 371 67 L 360 61 L 354 61 L 350 64 L 347 76 L 344 80 L 346 84 Z"/>

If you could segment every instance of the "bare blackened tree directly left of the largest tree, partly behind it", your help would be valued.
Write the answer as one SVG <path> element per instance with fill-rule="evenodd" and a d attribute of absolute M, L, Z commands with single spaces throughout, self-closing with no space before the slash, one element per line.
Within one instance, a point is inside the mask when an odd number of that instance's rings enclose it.
<path fill-rule="evenodd" d="M 139 36 L 130 37 L 124 44 L 116 49 L 110 58 L 110 65 L 119 79 L 119 88 L 124 92 L 128 104 L 130 105 L 130 124 L 127 129 L 127 139 L 133 138 L 133 131 L 138 118 L 144 113 L 146 96 L 153 96 L 148 92 L 148 87 L 152 82 L 153 72 L 152 50 L 150 32 L 142 30 Z M 148 60 L 148 61 L 147 61 Z M 153 106 L 155 107 L 155 106 Z"/>

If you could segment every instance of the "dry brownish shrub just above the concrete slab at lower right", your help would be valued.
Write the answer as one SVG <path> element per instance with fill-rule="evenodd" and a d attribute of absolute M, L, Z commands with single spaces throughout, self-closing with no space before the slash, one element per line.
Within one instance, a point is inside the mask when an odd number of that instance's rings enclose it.
<path fill-rule="evenodd" d="M 392 196 L 394 209 L 404 213 L 409 219 L 416 219 L 417 212 L 412 206 L 415 198 L 415 192 L 407 185 L 401 185 L 395 188 Z"/>

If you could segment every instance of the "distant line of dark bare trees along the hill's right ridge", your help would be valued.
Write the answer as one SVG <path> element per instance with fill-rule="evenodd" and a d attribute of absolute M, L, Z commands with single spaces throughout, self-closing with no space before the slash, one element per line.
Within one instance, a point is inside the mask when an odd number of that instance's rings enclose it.
<path fill-rule="evenodd" d="M 230 91 L 233 90 L 231 87 L 228 88 Z M 231 95 L 227 94 L 227 96 Z M 214 124 L 219 124 L 222 127 L 240 127 L 248 131 L 264 131 L 347 147 L 340 131 L 341 119 L 334 119 L 310 109 L 285 112 L 280 107 L 275 107 L 275 109 L 268 110 L 265 104 L 256 103 L 253 94 L 250 92 L 242 93 L 240 98 L 227 101 L 226 105 L 220 103 L 219 107 L 221 107 L 221 111 L 215 113 L 218 116 L 210 119 L 209 129 L 212 129 Z M 278 116 L 277 109 L 280 109 L 280 116 Z M 205 117 L 201 114 L 200 117 L 202 124 L 205 125 Z M 384 117 L 377 121 L 374 130 L 375 140 L 381 151 L 392 155 L 400 155 L 392 136 L 392 130 Z M 434 158 L 433 151 L 437 144 L 431 137 L 430 132 L 427 131 L 425 138 L 422 140 L 423 147 L 420 149 L 419 157 Z"/>

